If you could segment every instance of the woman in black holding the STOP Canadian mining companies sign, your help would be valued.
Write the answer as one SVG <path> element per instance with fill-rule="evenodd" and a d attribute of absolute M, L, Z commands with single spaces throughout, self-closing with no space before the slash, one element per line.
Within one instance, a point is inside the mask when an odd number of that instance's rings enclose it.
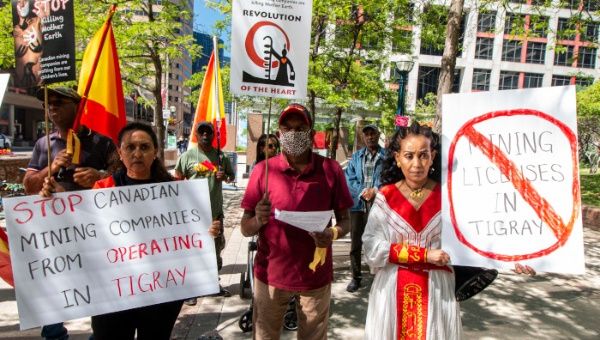
<path fill-rule="evenodd" d="M 152 127 L 142 123 L 129 123 L 119 133 L 118 152 L 120 162 L 112 176 L 99 180 L 94 188 L 110 188 L 136 184 L 172 181 L 164 164 L 157 157 L 158 138 Z M 64 191 L 54 178 L 46 179 L 41 194 L 50 196 Z M 209 229 L 212 236 L 219 232 L 219 222 Z M 171 301 L 152 306 L 133 308 L 114 313 L 92 316 L 95 340 L 165 339 L 171 331 L 181 310 L 183 301 Z"/>

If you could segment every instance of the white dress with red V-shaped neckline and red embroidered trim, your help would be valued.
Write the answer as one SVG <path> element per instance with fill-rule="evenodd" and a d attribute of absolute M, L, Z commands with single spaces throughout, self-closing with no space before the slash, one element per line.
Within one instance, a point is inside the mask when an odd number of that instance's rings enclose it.
<path fill-rule="evenodd" d="M 404 301 L 397 294 L 398 278 L 404 280 L 408 277 L 410 280 L 410 275 L 415 272 L 425 275 L 426 327 L 423 325 L 421 332 L 409 330 L 412 336 L 406 338 L 462 339 L 460 308 L 454 296 L 454 274 L 448 270 L 449 267 L 444 267 L 446 270 L 418 270 L 417 266 L 410 264 L 400 266 L 389 261 L 390 247 L 394 243 L 407 242 L 408 245 L 439 249 L 440 210 L 439 184 L 425 198 L 419 210 L 415 210 L 393 184 L 381 188 L 377 194 L 362 237 L 366 261 L 371 271 L 376 272 L 369 293 L 365 339 L 398 338 L 398 328 L 403 327 L 403 311 L 399 310 L 397 305 L 398 301 Z M 423 274 L 424 271 L 428 271 L 428 278 Z M 400 276 L 403 273 L 406 273 L 405 278 Z M 403 305 L 406 305 L 406 301 Z M 406 317 L 405 315 L 405 319 Z M 418 319 L 414 313 L 409 317 Z M 398 320 L 401 321 L 400 325 Z"/>

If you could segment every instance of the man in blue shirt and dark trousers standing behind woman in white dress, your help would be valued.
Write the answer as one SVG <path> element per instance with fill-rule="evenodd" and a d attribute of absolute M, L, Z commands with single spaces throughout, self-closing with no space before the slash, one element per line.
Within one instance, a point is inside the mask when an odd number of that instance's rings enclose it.
<path fill-rule="evenodd" d="M 385 149 L 379 146 L 377 125 L 365 125 L 361 135 L 366 146 L 352 155 L 345 170 L 346 182 L 354 200 L 350 211 L 352 280 L 346 287 L 350 293 L 354 293 L 360 288 L 362 280 L 362 235 L 365 225 L 367 225 L 369 209 L 377 193 L 377 188 L 381 184 L 381 167 L 385 152 Z"/>

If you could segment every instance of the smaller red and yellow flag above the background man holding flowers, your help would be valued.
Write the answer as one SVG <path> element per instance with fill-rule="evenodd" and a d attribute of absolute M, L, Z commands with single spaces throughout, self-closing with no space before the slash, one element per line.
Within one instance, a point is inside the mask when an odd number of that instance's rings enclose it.
<path fill-rule="evenodd" d="M 223 101 L 223 86 L 221 83 L 221 68 L 219 66 L 219 52 L 213 39 L 213 52 L 210 55 L 202 87 L 200 88 L 200 98 L 196 107 L 194 116 L 193 132 L 188 144 L 188 149 L 195 148 L 198 145 L 196 138 L 196 127 L 200 122 L 211 122 L 215 127 L 215 139 L 213 146 L 222 148 L 227 143 L 227 122 L 225 121 L 225 103 Z"/>

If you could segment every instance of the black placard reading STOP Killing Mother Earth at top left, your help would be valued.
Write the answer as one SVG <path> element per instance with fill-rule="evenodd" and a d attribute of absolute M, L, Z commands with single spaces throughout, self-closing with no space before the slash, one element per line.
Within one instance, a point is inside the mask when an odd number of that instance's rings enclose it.
<path fill-rule="evenodd" d="M 72 0 L 12 0 L 15 86 L 75 80 Z"/>

